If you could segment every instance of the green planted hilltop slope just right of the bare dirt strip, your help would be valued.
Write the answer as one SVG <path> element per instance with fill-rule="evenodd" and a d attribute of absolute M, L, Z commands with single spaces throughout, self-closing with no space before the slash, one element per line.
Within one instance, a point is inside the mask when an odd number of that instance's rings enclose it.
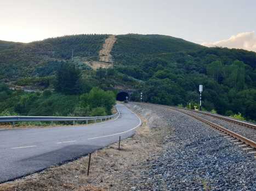
<path fill-rule="evenodd" d="M 117 35 L 111 55 L 124 65 L 135 65 L 145 58 L 174 59 L 178 52 L 202 50 L 204 46 L 189 41 L 158 34 Z"/>

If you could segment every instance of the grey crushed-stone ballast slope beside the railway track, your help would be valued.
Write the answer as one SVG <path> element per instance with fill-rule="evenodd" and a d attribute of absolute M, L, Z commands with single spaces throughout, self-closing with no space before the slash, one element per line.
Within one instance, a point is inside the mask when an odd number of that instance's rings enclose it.
<path fill-rule="evenodd" d="M 256 190 L 256 160 L 207 124 L 177 111 L 138 103 L 126 104 L 149 118 L 150 127 L 169 124 L 172 136 L 166 153 L 147 173 L 152 190 Z M 171 144 L 170 144 L 171 143 Z"/>

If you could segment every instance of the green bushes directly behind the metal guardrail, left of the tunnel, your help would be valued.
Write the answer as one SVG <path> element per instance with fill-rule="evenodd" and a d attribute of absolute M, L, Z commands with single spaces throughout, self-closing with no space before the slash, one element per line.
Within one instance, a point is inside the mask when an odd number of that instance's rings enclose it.
<path fill-rule="evenodd" d="M 98 88 L 93 88 L 89 93 L 79 96 L 55 93 L 50 89 L 45 89 L 43 93 L 25 92 L 20 89 L 10 90 L 7 84 L 1 83 L 0 94 L 3 93 L 8 96 L 4 98 L 4 102 L 0 103 L 0 116 L 111 115 L 111 109 L 116 100 L 115 93 Z"/>

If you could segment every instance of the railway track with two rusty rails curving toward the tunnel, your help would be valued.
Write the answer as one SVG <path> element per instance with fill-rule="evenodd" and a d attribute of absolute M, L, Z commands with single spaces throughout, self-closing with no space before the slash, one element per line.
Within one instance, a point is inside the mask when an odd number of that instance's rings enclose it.
<path fill-rule="evenodd" d="M 256 159 L 256 126 L 247 122 L 233 120 L 224 116 L 209 114 L 207 112 L 178 108 L 174 106 L 141 103 L 146 105 L 160 106 L 172 109 L 183 114 L 195 117 L 215 128 L 215 131 L 224 135 L 225 138 L 234 142 L 238 147 L 243 147 L 248 154 L 254 154 Z"/>

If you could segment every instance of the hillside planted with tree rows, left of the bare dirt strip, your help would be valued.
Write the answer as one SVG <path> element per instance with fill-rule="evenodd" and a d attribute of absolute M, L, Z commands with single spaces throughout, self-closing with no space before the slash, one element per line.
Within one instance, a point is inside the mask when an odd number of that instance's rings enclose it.
<path fill-rule="evenodd" d="M 35 69 L 47 65 L 49 61 L 69 60 L 72 50 L 75 57 L 87 57 L 89 53 L 90 56 L 98 56 L 107 37 L 105 34 L 66 35 L 0 51 L 0 75 L 7 76 L 11 81 L 36 76 Z"/>

